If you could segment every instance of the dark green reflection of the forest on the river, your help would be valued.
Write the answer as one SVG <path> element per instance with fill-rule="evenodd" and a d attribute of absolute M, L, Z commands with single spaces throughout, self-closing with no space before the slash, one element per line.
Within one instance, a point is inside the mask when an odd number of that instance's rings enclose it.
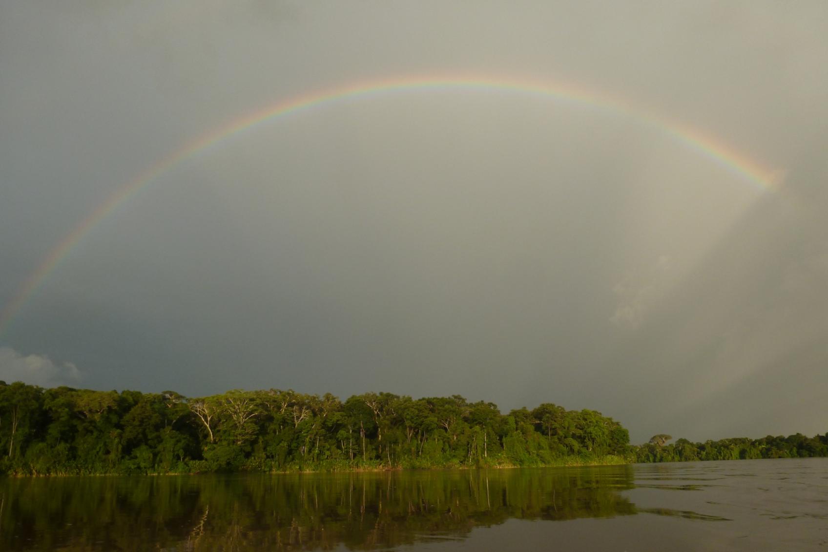
<path fill-rule="evenodd" d="M 632 467 L 0 482 L 2 550 L 371 549 L 510 517 L 634 514 Z"/>

